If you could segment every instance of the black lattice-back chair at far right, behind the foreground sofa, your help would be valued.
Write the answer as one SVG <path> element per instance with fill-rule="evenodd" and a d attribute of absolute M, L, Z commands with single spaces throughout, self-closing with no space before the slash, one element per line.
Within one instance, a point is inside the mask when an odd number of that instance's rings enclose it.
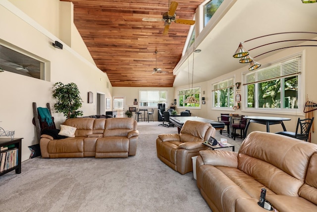
<path fill-rule="evenodd" d="M 288 137 L 297 138 L 299 140 L 308 141 L 309 132 L 311 130 L 313 121 L 314 121 L 314 117 L 305 118 L 305 119 L 298 118 L 295 132 L 282 131 L 282 132 L 277 132 L 276 134 L 285 135 Z M 301 129 L 300 133 L 298 133 L 298 128 Z"/>

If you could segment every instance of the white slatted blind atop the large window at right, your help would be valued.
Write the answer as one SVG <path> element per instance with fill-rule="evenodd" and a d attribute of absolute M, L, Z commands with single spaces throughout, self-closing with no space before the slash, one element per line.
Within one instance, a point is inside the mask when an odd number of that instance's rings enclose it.
<path fill-rule="evenodd" d="M 295 58 L 294 58 L 295 57 Z M 286 61 L 285 61 L 286 60 Z M 283 59 L 269 67 L 264 67 L 256 71 L 246 71 L 243 73 L 243 85 L 250 85 L 259 82 L 265 82 L 280 79 L 288 76 L 299 75 L 302 72 L 301 55 L 293 58 Z"/>

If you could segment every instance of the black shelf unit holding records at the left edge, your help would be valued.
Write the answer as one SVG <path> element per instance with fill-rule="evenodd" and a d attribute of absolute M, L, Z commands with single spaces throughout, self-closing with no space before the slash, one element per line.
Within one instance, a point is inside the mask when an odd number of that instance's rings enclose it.
<path fill-rule="evenodd" d="M 12 152 L 14 152 L 15 150 L 17 150 L 17 152 L 15 151 L 15 153 L 17 153 L 17 163 L 11 165 L 12 167 L 9 167 L 8 169 L 5 169 L 3 171 L 0 172 L 0 176 L 3 174 L 6 174 L 12 170 L 15 170 L 16 174 L 20 174 L 21 173 L 21 143 L 22 143 L 22 139 L 23 138 L 0 138 L 0 147 L 8 147 L 7 150 L 3 150 L 0 152 L 0 154 L 2 156 L 8 154 L 10 152 L 10 154 Z M 1 163 L 3 163 L 5 161 L 6 157 L 4 159 L 0 160 L 0 167 L 1 167 Z"/>

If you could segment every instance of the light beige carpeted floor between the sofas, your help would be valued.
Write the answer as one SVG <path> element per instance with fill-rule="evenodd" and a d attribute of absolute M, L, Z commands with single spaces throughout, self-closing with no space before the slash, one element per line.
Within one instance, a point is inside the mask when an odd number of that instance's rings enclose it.
<path fill-rule="evenodd" d="M 157 158 L 158 134 L 177 133 L 159 123 L 139 122 L 134 157 L 22 162 L 21 174 L 0 176 L 0 211 L 210 212 L 193 173 L 179 174 Z M 217 132 L 216 139 L 224 135 Z M 237 152 L 242 139 L 227 139 Z"/>

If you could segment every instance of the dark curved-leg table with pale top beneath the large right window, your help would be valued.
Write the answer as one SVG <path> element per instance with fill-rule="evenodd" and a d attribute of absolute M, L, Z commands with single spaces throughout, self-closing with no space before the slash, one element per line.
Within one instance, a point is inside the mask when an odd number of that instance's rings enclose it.
<path fill-rule="evenodd" d="M 275 117 L 275 116 L 244 116 L 244 118 L 248 119 L 245 131 L 244 131 L 244 138 L 246 138 L 247 136 L 250 123 L 259 123 L 259 124 L 266 125 L 266 132 L 269 132 L 269 125 L 281 124 L 283 127 L 283 130 L 286 131 L 286 127 L 283 121 L 291 120 L 290 118 Z"/>

